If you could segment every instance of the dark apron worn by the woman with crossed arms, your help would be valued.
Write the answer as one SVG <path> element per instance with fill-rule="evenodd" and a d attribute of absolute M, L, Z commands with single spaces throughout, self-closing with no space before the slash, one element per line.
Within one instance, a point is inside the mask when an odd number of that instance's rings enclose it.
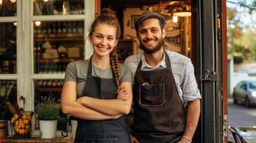
<path fill-rule="evenodd" d="M 98 99 L 116 99 L 118 89 L 115 79 L 104 79 L 91 76 L 91 60 L 88 67 L 87 80 L 82 95 Z M 113 71 L 112 71 L 113 73 Z M 115 77 L 115 76 L 114 76 Z M 78 119 L 75 142 L 86 143 L 127 143 L 128 126 L 124 115 L 115 120 L 82 120 Z"/>

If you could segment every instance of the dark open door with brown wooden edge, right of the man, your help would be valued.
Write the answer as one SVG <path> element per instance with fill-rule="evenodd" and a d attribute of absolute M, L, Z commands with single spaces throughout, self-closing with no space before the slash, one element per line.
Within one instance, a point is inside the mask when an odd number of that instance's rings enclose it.
<path fill-rule="evenodd" d="M 192 1 L 192 60 L 202 94 L 195 142 L 227 142 L 226 23 L 226 0 Z"/>

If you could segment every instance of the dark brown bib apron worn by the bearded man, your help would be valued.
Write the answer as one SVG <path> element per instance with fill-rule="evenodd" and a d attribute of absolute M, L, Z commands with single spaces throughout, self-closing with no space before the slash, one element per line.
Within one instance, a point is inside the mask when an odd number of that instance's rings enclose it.
<path fill-rule="evenodd" d="M 178 95 L 166 51 L 166 68 L 143 71 L 142 61 L 134 75 L 134 122 L 132 135 L 141 143 L 178 142 L 186 125 L 186 110 Z"/>

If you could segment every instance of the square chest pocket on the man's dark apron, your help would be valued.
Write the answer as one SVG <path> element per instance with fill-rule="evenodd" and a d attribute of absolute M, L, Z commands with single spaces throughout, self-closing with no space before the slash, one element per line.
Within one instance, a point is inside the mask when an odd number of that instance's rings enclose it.
<path fill-rule="evenodd" d="M 139 104 L 142 106 L 161 106 L 165 103 L 165 83 L 140 85 Z"/>

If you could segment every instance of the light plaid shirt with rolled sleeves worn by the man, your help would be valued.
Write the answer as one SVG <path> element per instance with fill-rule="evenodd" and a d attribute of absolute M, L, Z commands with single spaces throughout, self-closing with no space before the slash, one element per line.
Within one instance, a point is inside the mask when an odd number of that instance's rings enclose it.
<path fill-rule="evenodd" d="M 187 101 L 192 101 L 197 98 L 201 99 L 201 94 L 196 83 L 194 67 L 190 58 L 184 55 L 178 54 L 177 52 L 171 52 L 166 50 L 169 59 L 171 61 L 171 69 L 174 75 L 175 83 L 178 88 L 178 94 L 181 100 L 186 106 Z M 138 63 L 142 60 L 141 70 L 149 71 L 156 69 L 164 69 L 166 67 L 165 55 L 163 60 L 158 63 L 156 67 L 151 67 L 146 63 L 145 56 L 143 53 L 131 55 L 125 60 L 127 65 L 132 71 L 132 77 L 134 77 L 135 71 L 138 67 Z M 134 82 L 134 81 L 133 81 Z"/>

